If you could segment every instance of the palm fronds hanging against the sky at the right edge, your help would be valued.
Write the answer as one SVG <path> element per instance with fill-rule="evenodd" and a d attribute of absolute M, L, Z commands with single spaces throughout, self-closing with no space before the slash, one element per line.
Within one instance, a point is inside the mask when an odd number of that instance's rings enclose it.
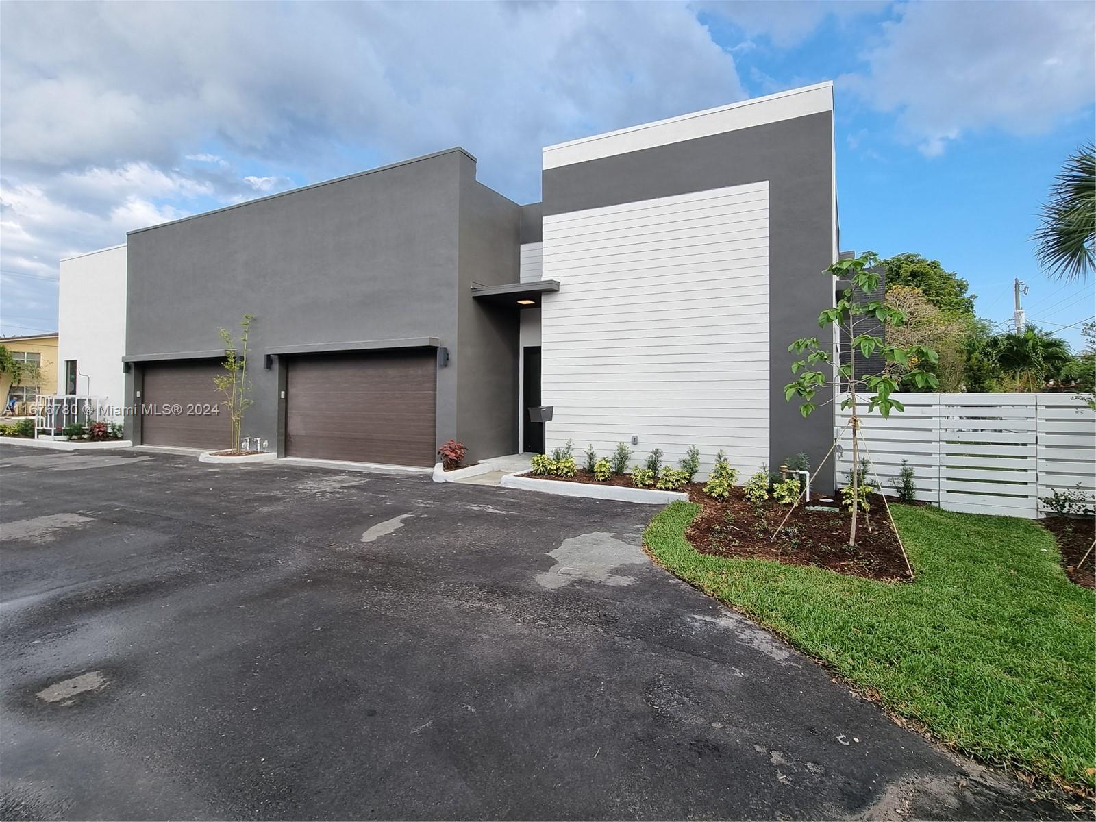
<path fill-rule="evenodd" d="M 1031 239 L 1048 276 L 1085 279 L 1096 270 L 1096 152 L 1093 144 L 1070 156 L 1050 190 Z"/>

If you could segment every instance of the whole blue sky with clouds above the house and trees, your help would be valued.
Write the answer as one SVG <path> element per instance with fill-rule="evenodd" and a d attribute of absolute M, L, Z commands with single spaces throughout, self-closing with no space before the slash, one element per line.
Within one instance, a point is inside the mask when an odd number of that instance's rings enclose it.
<path fill-rule="evenodd" d="M 0 332 L 133 228 L 453 145 L 532 202 L 544 145 L 827 79 L 844 248 L 938 259 L 996 322 L 1020 277 L 1074 345 L 1096 315 L 1028 240 L 1096 130 L 1091 3 L 195 8 L 0 5 Z"/>

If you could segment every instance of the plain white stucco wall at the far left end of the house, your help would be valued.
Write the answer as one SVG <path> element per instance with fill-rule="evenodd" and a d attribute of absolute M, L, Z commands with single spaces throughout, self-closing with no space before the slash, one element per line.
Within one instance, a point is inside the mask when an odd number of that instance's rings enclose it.
<path fill-rule="evenodd" d="M 65 361 L 77 361 L 77 393 L 125 399 L 126 247 L 61 260 L 57 300 L 57 392 L 65 392 Z M 121 421 L 121 415 L 116 419 Z"/>

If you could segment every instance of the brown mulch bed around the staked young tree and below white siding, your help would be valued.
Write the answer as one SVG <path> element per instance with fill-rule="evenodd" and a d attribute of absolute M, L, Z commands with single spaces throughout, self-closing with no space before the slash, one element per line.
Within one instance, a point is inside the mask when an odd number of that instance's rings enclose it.
<path fill-rule="evenodd" d="M 548 482 L 586 482 L 603 486 L 632 488 L 628 475 L 598 482 L 589 471 L 580 469 L 574 477 L 523 477 Z M 685 534 L 701 553 L 742 559 L 767 559 L 788 566 L 813 566 L 852 576 L 872 580 L 909 581 L 910 572 L 902 556 L 894 529 L 887 518 L 882 498 L 874 494 L 870 500 L 871 530 L 863 516 L 857 521 L 856 547 L 848 545 L 848 514 L 807 511 L 802 503 L 788 517 L 775 539 L 776 530 L 788 506 L 765 502 L 755 506 L 742 495 L 742 489 L 731 491 L 729 500 L 713 500 L 704 493 L 704 486 L 694 482 L 684 489 L 689 499 L 700 506 L 700 513 Z M 811 494 L 811 504 L 820 504 L 820 494 Z M 832 503 L 831 503 L 832 504 Z M 1080 559 L 1080 555 L 1077 555 Z"/>

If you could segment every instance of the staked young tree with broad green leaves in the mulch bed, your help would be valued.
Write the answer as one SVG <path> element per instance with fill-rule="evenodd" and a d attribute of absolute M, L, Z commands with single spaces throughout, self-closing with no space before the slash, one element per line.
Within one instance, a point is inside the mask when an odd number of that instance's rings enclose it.
<path fill-rule="evenodd" d="M 859 350 L 865 359 L 868 359 L 877 351 L 880 352 L 888 365 L 895 364 L 907 369 L 904 377 L 914 386 L 935 390 L 939 386 L 936 375 L 920 367 L 938 361 L 935 351 L 920 343 L 894 345 L 879 336 L 857 332 L 858 324 L 867 317 L 874 317 L 882 323 L 884 335 L 888 327 L 899 327 L 905 319 L 901 311 L 891 308 L 883 300 L 874 300 L 868 297 L 879 287 L 879 274 L 871 271 L 878 263 L 879 256 L 875 252 L 868 251 L 855 260 L 841 260 L 825 270 L 825 274 L 847 281 L 849 287 L 845 289 L 836 306 L 827 308 L 819 315 L 819 327 L 829 327 L 838 333 L 844 332 L 844 335 L 850 340 L 852 349 Z M 844 389 L 847 392 L 848 396 L 842 400 L 841 407 L 852 410 L 849 427 L 853 432 L 853 465 L 858 466 L 860 464 L 860 420 L 857 412 L 863 401 L 863 395 L 869 392 L 871 395 L 867 398 L 868 413 L 878 409 L 883 416 L 890 416 L 891 411 L 905 410 L 901 402 L 891 397 L 898 391 L 898 381 L 894 376 L 888 374 L 886 368 L 880 374 L 857 374 L 856 358 L 852 356 L 848 358 L 848 363 L 835 363 L 831 340 L 820 341 L 817 336 L 802 338 L 792 342 L 788 346 L 788 351 L 794 354 L 806 354 L 802 359 L 791 364 L 791 373 L 796 375 L 796 379 L 784 387 L 784 397 L 788 402 L 791 401 L 792 397 L 800 398 L 799 412 L 804 418 L 818 408 L 814 397 L 820 390 L 832 388 L 834 391 Z M 826 369 L 822 370 L 819 366 L 825 366 Z M 859 471 L 854 470 L 852 472 L 852 499 L 854 501 L 860 500 L 859 480 Z M 856 545 L 858 509 L 859 503 L 854 502 L 848 532 L 849 545 Z"/>

